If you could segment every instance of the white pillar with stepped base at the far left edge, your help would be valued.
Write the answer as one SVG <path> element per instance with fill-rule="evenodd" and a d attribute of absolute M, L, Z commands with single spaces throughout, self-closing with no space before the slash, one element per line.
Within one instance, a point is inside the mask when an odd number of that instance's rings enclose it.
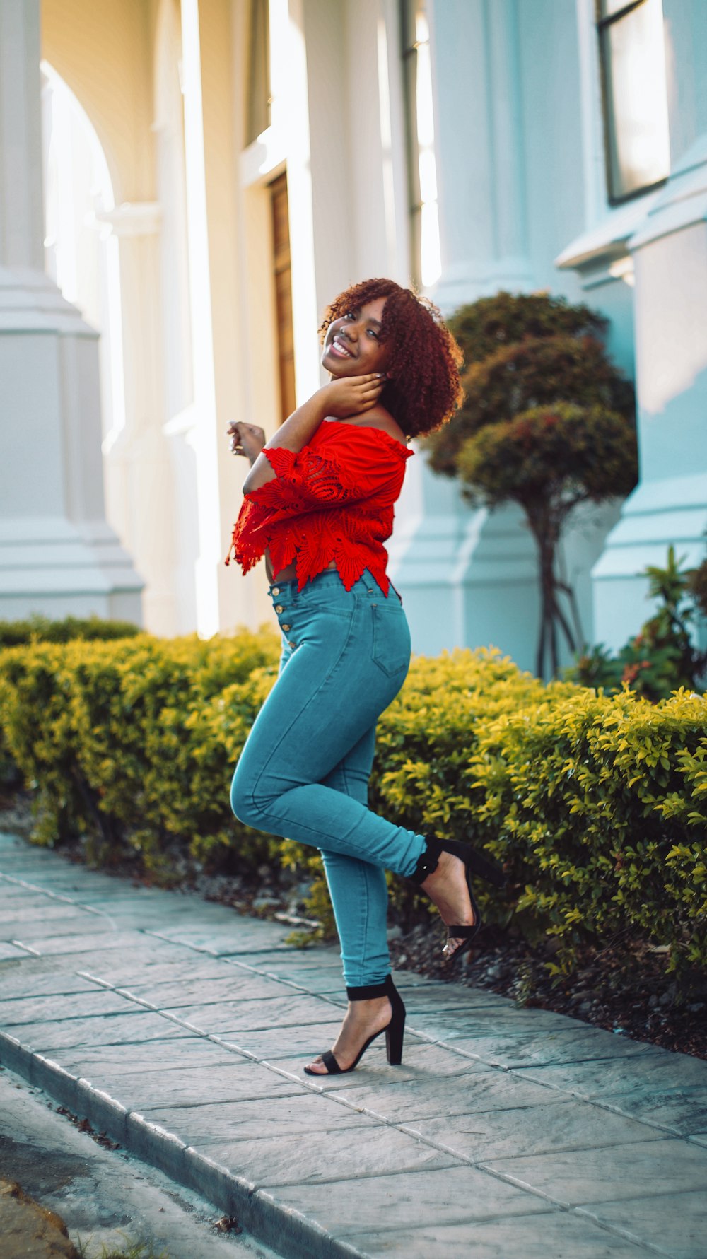
<path fill-rule="evenodd" d="M 0 617 L 140 619 L 103 511 L 97 334 L 44 273 L 39 0 L 0 0 Z"/>

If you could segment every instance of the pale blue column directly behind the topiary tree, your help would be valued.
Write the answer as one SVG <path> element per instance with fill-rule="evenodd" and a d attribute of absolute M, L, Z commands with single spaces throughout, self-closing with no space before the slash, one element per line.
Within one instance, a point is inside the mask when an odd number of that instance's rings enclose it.
<path fill-rule="evenodd" d="M 533 288 L 526 243 L 515 0 L 428 0 L 442 273 L 450 315 L 499 288 Z M 408 465 L 391 545 L 413 651 L 493 643 L 533 667 L 537 558 L 515 509 L 471 511 L 459 486 Z"/>

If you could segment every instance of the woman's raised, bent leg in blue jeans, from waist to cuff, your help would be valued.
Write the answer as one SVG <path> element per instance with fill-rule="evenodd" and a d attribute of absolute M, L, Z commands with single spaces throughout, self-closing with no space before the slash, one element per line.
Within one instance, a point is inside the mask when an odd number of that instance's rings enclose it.
<path fill-rule="evenodd" d="M 291 597 L 284 608 L 296 650 L 248 734 L 231 801 L 248 826 L 411 875 L 425 837 L 324 786 L 393 701 L 410 662 L 402 607 L 383 608 L 368 585 L 352 597 L 358 585 L 339 583 L 340 594 L 318 592 L 309 603 Z"/>

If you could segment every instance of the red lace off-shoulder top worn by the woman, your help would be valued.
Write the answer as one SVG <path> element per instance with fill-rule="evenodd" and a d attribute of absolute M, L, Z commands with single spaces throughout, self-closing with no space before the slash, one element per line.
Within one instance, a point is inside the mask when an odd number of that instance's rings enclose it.
<path fill-rule="evenodd" d="M 262 453 L 276 476 L 244 495 L 226 563 L 233 553 L 247 573 L 267 548 L 276 575 L 295 560 L 301 590 L 335 560 L 347 590 L 367 568 L 387 596 L 383 543 L 415 451 L 382 428 L 325 419 L 296 454 Z"/>

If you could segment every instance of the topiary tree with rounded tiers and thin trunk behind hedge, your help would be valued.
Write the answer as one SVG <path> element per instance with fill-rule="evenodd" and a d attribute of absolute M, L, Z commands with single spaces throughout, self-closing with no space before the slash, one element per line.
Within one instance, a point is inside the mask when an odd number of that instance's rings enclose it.
<path fill-rule="evenodd" d="M 573 592 L 557 575 L 557 546 L 578 504 L 625 496 L 635 485 L 634 389 L 607 359 L 609 321 L 587 306 L 500 292 L 447 322 L 464 351 L 465 398 L 422 447 L 434 471 L 463 482 L 470 504 L 523 509 L 538 548 L 537 672 L 549 663 L 556 674 L 558 632 L 571 651 L 583 646 Z"/>

